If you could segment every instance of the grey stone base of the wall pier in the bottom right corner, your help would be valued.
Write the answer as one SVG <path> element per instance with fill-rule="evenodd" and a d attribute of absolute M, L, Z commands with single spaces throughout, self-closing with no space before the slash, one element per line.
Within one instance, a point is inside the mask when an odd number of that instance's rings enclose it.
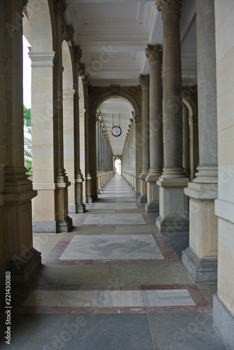
<path fill-rule="evenodd" d="M 220 300 L 218 294 L 214 294 L 213 322 L 214 329 L 221 336 L 227 349 L 233 349 L 234 344 L 234 316 Z"/>

